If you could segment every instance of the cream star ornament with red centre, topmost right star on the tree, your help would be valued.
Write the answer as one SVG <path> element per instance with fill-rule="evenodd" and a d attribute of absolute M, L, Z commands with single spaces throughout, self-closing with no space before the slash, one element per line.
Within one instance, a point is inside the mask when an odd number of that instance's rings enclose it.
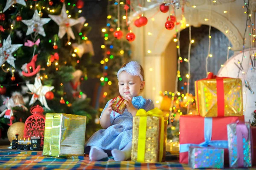
<path fill-rule="evenodd" d="M 58 32 L 59 38 L 62 38 L 67 33 L 68 37 L 75 39 L 75 35 L 71 29 L 71 26 L 74 26 L 78 23 L 84 22 L 85 18 L 80 17 L 77 20 L 73 19 L 73 18 L 69 18 L 67 16 L 66 11 L 67 11 L 66 6 L 65 6 L 65 4 L 63 4 L 60 15 L 49 15 L 49 17 L 52 18 L 52 20 L 54 20 L 54 22 L 57 23 L 59 26 L 59 32 Z M 84 18 L 84 20 L 82 18 Z"/>

